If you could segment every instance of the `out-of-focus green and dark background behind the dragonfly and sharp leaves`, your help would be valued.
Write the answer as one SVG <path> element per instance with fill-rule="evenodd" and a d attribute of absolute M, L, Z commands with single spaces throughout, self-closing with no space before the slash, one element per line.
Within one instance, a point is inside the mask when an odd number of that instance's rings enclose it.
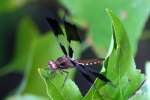
<path fill-rule="evenodd" d="M 80 44 L 73 44 L 77 57 L 105 57 L 112 36 L 106 8 L 123 23 L 136 64 L 144 72 L 145 62 L 150 60 L 150 0 L 1 0 L 0 99 L 12 94 L 46 96 L 37 68 L 62 55 L 46 17 L 64 12 L 87 29 L 82 34 L 85 48 L 80 50 Z M 79 79 L 77 74 L 75 77 Z M 78 84 L 85 93 L 82 80 Z"/>

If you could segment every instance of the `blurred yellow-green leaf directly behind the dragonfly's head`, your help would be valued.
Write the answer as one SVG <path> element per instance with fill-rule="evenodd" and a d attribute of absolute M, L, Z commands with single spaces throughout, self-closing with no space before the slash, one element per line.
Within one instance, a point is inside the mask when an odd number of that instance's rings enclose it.
<path fill-rule="evenodd" d="M 73 47 L 78 47 L 78 43 L 73 43 Z M 78 52 L 78 50 L 77 50 Z M 26 63 L 27 69 L 25 70 L 24 80 L 18 89 L 18 93 L 32 93 L 40 96 L 45 96 L 46 91 L 38 75 L 38 67 L 47 67 L 49 60 L 56 60 L 58 57 L 63 56 L 63 53 L 59 47 L 59 44 L 52 33 L 48 33 L 44 36 L 34 40 L 31 44 L 31 49 Z M 73 75 L 74 71 L 70 71 Z M 71 75 L 71 77 L 73 77 Z M 60 77 L 64 77 L 61 75 Z M 63 79 L 60 79 L 56 83 L 63 84 Z"/>

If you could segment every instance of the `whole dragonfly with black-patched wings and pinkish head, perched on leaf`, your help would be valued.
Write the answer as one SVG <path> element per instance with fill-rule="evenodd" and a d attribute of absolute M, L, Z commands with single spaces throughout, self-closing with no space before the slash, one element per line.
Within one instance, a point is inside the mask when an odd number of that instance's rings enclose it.
<path fill-rule="evenodd" d="M 71 41 L 79 41 L 81 42 L 81 39 L 79 37 L 80 29 L 71 22 L 68 22 L 66 20 L 58 20 L 55 18 L 47 18 L 47 22 L 50 26 L 50 28 L 53 31 L 54 36 L 56 37 L 58 44 L 63 52 L 63 56 L 58 57 L 55 61 L 50 60 L 48 61 L 48 66 L 52 72 L 55 72 L 57 70 L 64 72 L 67 74 L 65 77 L 65 81 L 68 77 L 68 72 L 65 69 L 69 68 L 76 68 L 90 83 L 93 83 L 94 80 L 92 80 L 92 76 L 97 77 L 98 79 L 104 81 L 104 82 L 110 82 L 108 78 L 106 78 L 101 73 L 87 67 L 92 66 L 95 64 L 102 64 L 103 60 L 102 58 L 96 58 L 96 59 L 74 59 L 73 58 L 73 49 L 71 47 Z M 62 30 L 62 27 L 65 30 Z M 66 36 L 68 46 L 65 47 L 65 44 L 62 43 L 62 41 L 59 40 L 60 36 Z"/>

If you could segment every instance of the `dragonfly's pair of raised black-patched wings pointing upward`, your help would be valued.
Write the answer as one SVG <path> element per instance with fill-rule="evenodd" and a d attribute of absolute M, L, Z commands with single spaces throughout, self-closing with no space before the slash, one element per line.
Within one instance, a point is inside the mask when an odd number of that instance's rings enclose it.
<path fill-rule="evenodd" d="M 59 20 L 58 21 L 58 20 L 53 19 L 53 18 L 47 18 L 47 21 L 50 24 L 50 26 L 53 30 L 53 33 L 56 36 L 63 53 L 72 58 L 73 57 L 73 49 L 70 46 L 70 43 L 71 43 L 71 40 L 81 42 L 79 34 L 78 34 L 79 28 L 77 28 L 76 25 L 67 22 L 66 20 Z M 59 35 L 65 36 L 61 27 L 60 27 L 60 24 L 62 24 L 64 26 L 65 31 L 66 31 L 67 42 L 68 42 L 67 43 L 68 44 L 67 49 L 65 48 L 65 45 L 63 45 L 63 43 L 61 41 L 59 41 Z M 68 53 L 67 53 L 67 50 L 68 50 Z"/>

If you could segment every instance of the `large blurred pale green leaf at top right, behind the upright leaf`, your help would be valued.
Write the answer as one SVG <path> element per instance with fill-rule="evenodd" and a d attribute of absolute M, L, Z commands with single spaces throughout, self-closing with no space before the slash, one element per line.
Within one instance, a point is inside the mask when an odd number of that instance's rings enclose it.
<path fill-rule="evenodd" d="M 60 0 L 73 14 L 73 19 L 89 28 L 89 38 L 98 54 L 105 56 L 111 39 L 106 8 L 121 19 L 129 37 L 132 53 L 150 14 L 150 0 Z M 90 42 L 91 43 L 91 42 Z M 101 52 L 99 52 L 101 51 Z"/>

